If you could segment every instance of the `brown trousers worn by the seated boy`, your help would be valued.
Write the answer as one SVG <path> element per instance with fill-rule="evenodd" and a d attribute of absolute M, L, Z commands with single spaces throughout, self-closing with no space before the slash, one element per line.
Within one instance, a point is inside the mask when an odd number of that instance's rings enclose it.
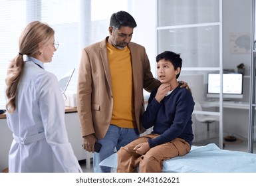
<path fill-rule="evenodd" d="M 144 155 L 136 153 L 133 149 L 139 143 L 157 138 L 159 135 L 148 134 L 137 138 L 118 151 L 118 173 L 136 172 L 139 165 L 141 173 L 162 172 L 162 161 L 172 157 L 186 155 L 190 151 L 190 144 L 181 138 L 150 148 Z"/>

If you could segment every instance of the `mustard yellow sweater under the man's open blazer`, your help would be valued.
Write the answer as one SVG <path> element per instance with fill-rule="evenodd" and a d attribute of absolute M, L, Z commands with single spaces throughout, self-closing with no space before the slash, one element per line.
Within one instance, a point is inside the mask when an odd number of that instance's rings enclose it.
<path fill-rule="evenodd" d="M 127 46 L 120 50 L 109 43 L 107 49 L 114 103 L 111 124 L 120 128 L 137 128 L 130 50 Z"/>

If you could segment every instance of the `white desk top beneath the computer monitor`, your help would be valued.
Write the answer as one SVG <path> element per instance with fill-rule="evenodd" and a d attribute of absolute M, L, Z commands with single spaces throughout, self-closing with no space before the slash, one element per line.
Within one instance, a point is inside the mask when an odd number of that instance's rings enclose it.
<path fill-rule="evenodd" d="M 201 106 L 204 108 L 219 107 L 219 101 L 205 100 L 201 102 Z M 249 109 L 249 102 L 223 101 L 223 108 Z"/>

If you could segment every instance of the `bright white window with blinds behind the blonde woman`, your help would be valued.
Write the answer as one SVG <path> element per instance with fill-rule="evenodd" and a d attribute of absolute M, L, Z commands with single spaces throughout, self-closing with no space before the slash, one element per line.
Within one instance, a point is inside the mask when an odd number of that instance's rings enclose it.
<path fill-rule="evenodd" d="M 108 36 L 110 16 L 127 7 L 127 0 L 0 0 L 0 109 L 6 104 L 7 67 L 19 52 L 19 35 L 27 23 L 42 21 L 53 27 L 60 45 L 45 69 L 59 79 L 76 68 L 66 94 L 76 93 L 82 47 Z"/>

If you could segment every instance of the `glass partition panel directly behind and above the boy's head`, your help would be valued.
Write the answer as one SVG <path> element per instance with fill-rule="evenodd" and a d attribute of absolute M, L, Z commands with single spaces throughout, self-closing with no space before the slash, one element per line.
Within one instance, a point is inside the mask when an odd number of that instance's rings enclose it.
<path fill-rule="evenodd" d="M 158 41 L 158 53 L 180 53 L 184 67 L 219 67 L 219 26 L 161 29 Z"/>

